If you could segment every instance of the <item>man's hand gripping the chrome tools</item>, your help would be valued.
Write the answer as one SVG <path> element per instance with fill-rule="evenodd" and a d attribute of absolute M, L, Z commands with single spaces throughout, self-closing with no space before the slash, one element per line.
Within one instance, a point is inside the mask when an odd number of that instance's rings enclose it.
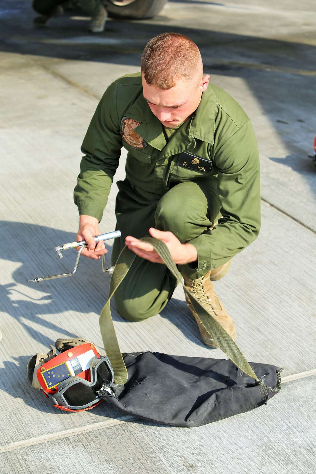
<path fill-rule="evenodd" d="M 96 245 L 93 236 L 100 234 L 99 221 L 95 217 L 81 215 L 79 220 L 79 230 L 77 234 L 77 242 L 85 240 L 89 247 L 84 248 L 81 255 L 91 258 L 91 260 L 99 260 L 100 256 L 106 254 L 108 251 L 105 248 L 104 242 L 100 241 Z M 79 247 L 76 248 L 79 250 Z"/>

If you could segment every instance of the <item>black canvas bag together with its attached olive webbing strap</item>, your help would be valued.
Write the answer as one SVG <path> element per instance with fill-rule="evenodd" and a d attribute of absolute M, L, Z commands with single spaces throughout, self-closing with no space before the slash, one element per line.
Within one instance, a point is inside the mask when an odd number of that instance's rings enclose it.
<path fill-rule="evenodd" d="M 144 237 L 181 281 L 163 242 Z M 110 312 L 110 299 L 132 265 L 135 254 L 125 247 L 112 274 L 109 298 L 100 314 L 100 331 L 114 370 L 116 397 L 100 390 L 110 406 L 138 418 L 172 426 L 194 427 L 253 410 L 280 391 L 274 365 L 249 364 L 224 328 L 199 304 L 190 300 L 211 337 L 229 359 L 170 356 L 158 352 L 121 354 Z"/>

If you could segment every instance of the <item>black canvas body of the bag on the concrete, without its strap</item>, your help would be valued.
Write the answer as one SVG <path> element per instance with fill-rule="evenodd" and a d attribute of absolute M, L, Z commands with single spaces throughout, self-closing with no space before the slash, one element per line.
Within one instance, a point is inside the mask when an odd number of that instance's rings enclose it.
<path fill-rule="evenodd" d="M 172 426 L 194 427 L 253 410 L 280 389 L 274 365 L 251 364 L 269 384 L 254 383 L 232 361 L 168 356 L 159 352 L 124 354 L 128 380 L 117 398 L 102 398 L 137 418 Z M 271 391 L 272 390 L 272 391 Z"/>

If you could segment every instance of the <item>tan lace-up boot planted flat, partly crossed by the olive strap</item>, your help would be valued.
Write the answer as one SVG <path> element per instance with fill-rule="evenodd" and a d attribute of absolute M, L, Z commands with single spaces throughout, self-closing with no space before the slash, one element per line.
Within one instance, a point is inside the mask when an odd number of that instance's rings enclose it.
<path fill-rule="evenodd" d="M 183 276 L 184 284 L 190 289 L 190 291 L 196 296 L 199 303 L 210 313 L 217 322 L 223 326 L 229 336 L 235 341 L 236 339 L 236 329 L 233 319 L 228 316 L 224 306 L 219 301 L 219 298 L 214 291 L 213 283 L 210 281 L 210 272 L 206 275 L 201 276 L 196 280 L 190 280 L 190 278 Z M 218 347 L 214 339 L 209 336 L 207 330 L 204 328 L 202 323 L 199 320 L 199 317 L 194 310 L 190 298 L 188 295 L 185 295 L 186 303 L 191 311 L 193 317 L 198 323 L 201 339 L 204 344 L 208 347 Z"/>

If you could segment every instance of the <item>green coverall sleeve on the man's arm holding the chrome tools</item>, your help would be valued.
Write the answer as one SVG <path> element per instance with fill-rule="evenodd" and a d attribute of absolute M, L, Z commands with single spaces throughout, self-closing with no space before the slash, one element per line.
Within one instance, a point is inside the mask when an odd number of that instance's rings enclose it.
<path fill-rule="evenodd" d="M 83 139 L 80 174 L 74 189 L 79 214 L 102 219 L 113 176 L 117 170 L 122 137 L 116 106 L 116 83 L 105 91 Z"/>

